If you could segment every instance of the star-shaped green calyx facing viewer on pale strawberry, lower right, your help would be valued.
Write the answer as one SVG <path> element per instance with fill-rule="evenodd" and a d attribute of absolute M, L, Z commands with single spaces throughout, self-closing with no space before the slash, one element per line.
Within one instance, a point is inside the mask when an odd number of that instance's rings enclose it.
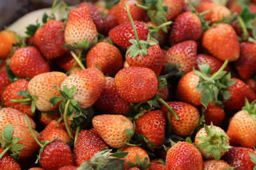
<path fill-rule="evenodd" d="M 207 137 L 198 137 L 202 143 L 199 143 L 197 148 L 206 149 L 206 157 L 213 154 L 214 159 L 220 160 L 221 152 L 227 152 L 229 148 L 232 148 L 226 143 L 226 140 L 229 139 L 227 134 L 217 132 L 212 123 L 210 128 L 204 125 L 204 129 Z"/>

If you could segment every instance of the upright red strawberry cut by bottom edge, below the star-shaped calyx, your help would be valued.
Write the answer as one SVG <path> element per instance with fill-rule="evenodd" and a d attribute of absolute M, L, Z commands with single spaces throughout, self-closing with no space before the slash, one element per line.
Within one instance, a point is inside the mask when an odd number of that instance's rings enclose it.
<path fill-rule="evenodd" d="M 168 169 L 203 169 L 203 158 L 194 145 L 179 142 L 173 145 L 166 155 Z"/>

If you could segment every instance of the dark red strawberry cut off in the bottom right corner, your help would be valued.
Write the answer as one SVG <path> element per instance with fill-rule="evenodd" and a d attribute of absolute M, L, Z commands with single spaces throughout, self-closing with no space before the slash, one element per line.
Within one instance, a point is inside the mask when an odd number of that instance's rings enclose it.
<path fill-rule="evenodd" d="M 253 164 L 249 153 L 255 154 L 255 151 L 250 148 L 232 147 L 223 156 L 223 159 L 235 169 L 252 170 L 255 164 Z"/>

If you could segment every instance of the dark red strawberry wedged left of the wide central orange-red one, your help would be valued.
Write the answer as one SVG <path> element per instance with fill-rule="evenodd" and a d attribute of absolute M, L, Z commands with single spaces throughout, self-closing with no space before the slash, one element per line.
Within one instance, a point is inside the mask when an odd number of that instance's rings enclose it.
<path fill-rule="evenodd" d="M 106 87 L 99 99 L 94 103 L 95 108 L 103 113 L 124 115 L 130 110 L 130 104 L 124 101 L 116 90 L 115 79 L 106 76 Z"/>

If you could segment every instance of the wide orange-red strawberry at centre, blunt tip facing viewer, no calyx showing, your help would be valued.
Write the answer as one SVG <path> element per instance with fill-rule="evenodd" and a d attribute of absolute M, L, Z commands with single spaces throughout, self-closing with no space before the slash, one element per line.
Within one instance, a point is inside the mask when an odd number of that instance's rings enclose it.
<path fill-rule="evenodd" d="M 156 74 L 146 67 L 125 67 L 115 76 L 118 94 L 129 103 L 147 101 L 157 93 Z M 147 93 L 145 93 L 147 92 Z"/>

